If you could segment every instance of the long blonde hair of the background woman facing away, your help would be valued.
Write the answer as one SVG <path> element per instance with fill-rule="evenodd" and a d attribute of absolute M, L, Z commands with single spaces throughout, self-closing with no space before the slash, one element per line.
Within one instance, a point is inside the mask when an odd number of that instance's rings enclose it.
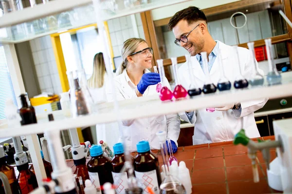
<path fill-rule="evenodd" d="M 94 55 L 93 58 L 93 73 L 90 79 L 87 81 L 90 88 L 101 88 L 104 84 L 104 76 L 106 73 L 106 65 L 103 59 L 102 52 Z"/>

